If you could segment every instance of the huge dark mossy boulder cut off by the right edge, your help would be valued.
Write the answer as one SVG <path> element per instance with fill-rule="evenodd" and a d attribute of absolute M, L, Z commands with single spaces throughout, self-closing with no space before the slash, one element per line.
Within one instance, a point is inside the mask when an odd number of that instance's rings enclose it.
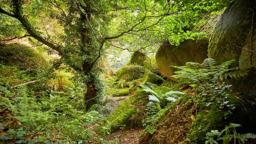
<path fill-rule="evenodd" d="M 235 0 L 216 23 L 208 57 L 222 63 L 236 59 L 235 66 L 251 67 L 249 74 L 232 82 L 244 96 L 256 96 L 256 1 Z"/>

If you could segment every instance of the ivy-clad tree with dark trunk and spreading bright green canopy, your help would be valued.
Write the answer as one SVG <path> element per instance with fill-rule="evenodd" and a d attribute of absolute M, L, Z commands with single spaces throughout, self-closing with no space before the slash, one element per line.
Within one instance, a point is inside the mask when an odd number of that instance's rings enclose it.
<path fill-rule="evenodd" d="M 32 37 L 58 52 L 61 62 L 74 68 L 86 83 L 86 101 L 90 106 L 102 98 L 98 62 L 106 48 L 111 45 L 123 50 L 142 51 L 151 49 L 154 44 L 163 40 L 178 44 L 185 38 L 194 38 L 195 34 L 188 34 L 192 24 L 198 22 L 203 15 L 225 7 L 230 1 L 160 0 L 160 4 L 152 0 L 0 2 L 1 17 L 14 18 L 16 26 L 24 29 L 24 32 L 18 34 L 24 33 L 23 36 L 7 40 Z M 50 23 L 59 24 L 55 26 L 59 32 L 49 34 L 47 26 L 35 22 L 42 18 L 41 14 L 47 20 L 54 20 Z M 6 19 L 8 18 L 5 17 Z M 21 26 L 17 24 L 17 20 Z M 4 32 L 2 36 L 10 37 L 8 34 L 9 32 Z"/>

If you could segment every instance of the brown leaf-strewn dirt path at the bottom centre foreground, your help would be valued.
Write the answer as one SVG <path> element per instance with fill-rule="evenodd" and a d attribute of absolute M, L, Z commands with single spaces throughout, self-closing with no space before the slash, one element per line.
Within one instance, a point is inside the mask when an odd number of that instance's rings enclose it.
<path fill-rule="evenodd" d="M 140 134 L 143 129 L 132 129 L 132 130 L 120 130 L 108 135 L 104 140 L 114 140 L 118 138 L 120 144 L 139 144 Z"/>

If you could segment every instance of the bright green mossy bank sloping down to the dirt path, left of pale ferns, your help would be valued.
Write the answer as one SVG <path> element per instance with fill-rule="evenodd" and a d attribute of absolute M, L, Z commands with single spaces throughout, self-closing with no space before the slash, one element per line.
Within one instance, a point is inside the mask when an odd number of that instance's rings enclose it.
<path fill-rule="evenodd" d="M 116 132 L 124 127 L 135 128 L 142 126 L 141 119 L 137 116 L 132 119 L 133 116 L 138 115 L 138 110 L 134 106 L 145 106 L 147 100 L 147 94 L 141 89 L 137 89 L 134 95 L 130 96 L 118 108 L 110 114 L 105 122 L 96 128 L 96 132 L 101 135 L 106 135 L 107 132 Z"/>

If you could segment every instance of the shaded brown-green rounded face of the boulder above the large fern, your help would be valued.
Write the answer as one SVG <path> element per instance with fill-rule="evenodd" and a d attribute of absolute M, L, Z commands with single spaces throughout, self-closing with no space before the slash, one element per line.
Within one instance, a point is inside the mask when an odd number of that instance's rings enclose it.
<path fill-rule="evenodd" d="M 202 63 L 207 58 L 208 39 L 198 42 L 185 40 L 179 46 L 163 44 L 156 52 L 156 62 L 159 71 L 165 77 L 174 80 L 174 69 L 171 66 L 184 66 L 186 62 Z"/>

